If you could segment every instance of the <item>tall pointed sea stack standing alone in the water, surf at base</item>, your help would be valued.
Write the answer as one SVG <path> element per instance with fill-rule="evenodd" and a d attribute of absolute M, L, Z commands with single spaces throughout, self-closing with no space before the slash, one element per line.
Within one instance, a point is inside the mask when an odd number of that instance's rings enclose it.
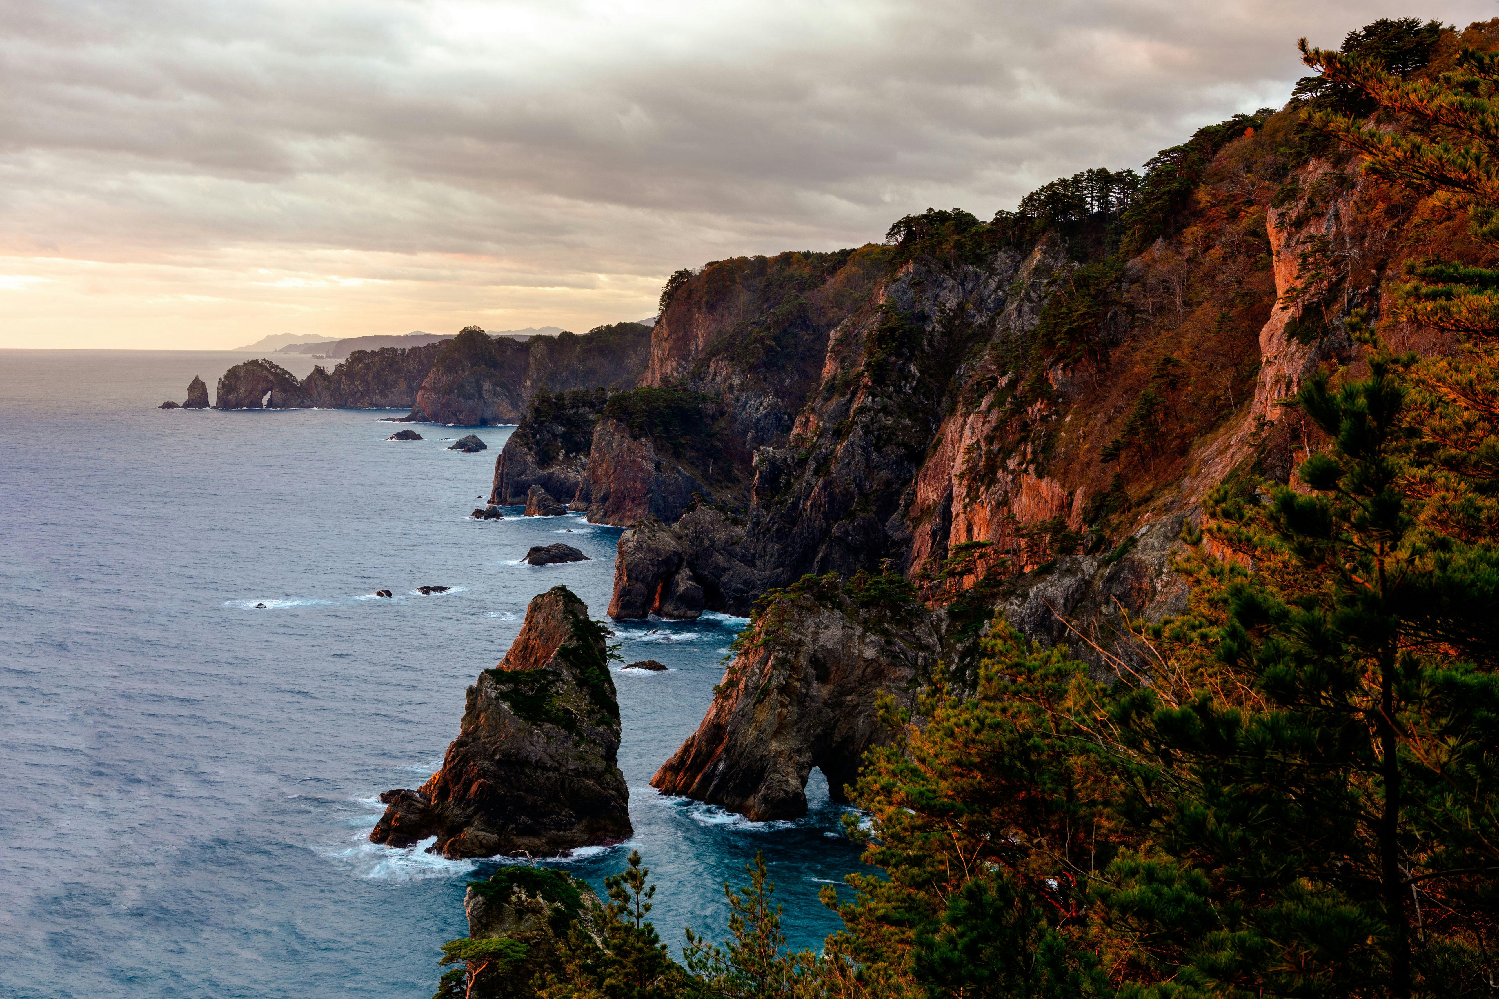
<path fill-rule="evenodd" d="M 567 587 L 526 608 L 505 659 L 468 689 L 459 737 L 420 789 L 381 795 L 375 843 L 444 857 L 565 854 L 630 836 L 604 629 Z"/>

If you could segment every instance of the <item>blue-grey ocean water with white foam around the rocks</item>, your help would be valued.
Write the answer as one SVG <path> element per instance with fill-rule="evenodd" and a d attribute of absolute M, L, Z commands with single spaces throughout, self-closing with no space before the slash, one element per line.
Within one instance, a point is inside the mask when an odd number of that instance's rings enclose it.
<path fill-rule="evenodd" d="M 154 407 L 244 356 L 0 350 L 0 995 L 424 999 L 493 863 L 370 845 L 375 795 L 441 764 L 534 595 L 604 616 L 619 530 L 466 520 L 508 427 L 465 455 L 469 430 L 387 442 L 382 410 Z M 553 541 L 591 560 L 519 563 Z M 818 890 L 859 866 L 820 774 L 797 822 L 648 785 L 742 626 L 613 626 L 670 669 L 616 672 L 634 837 L 565 866 L 601 888 L 639 848 L 679 947 L 723 936 L 723 882 L 761 851 L 815 947 Z"/>

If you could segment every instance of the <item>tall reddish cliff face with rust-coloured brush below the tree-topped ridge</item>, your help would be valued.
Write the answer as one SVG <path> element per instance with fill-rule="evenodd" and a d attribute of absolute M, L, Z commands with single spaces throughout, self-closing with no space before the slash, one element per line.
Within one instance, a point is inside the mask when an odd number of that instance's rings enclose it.
<path fill-rule="evenodd" d="M 1001 216 L 884 250 L 892 268 L 827 333 L 790 433 L 755 448 L 738 523 L 627 532 L 612 613 L 669 607 L 678 574 L 708 608 L 742 614 L 802 574 L 889 560 L 934 605 L 1009 607 L 1027 634 L 1094 661 L 1079 632 L 1127 646 L 1118 608 L 1177 607 L 1166 566 L 1204 494 L 1289 481 L 1316 446 L 1280 400 L 1318 368 L 1357 374 L 1349 310 L 1378 319 L 1402 261 L 1427 247 L 1484 253 L 1462 220 L 1357 160 L 1295 162 L 1294 112 L 1246 121 L 1195 136 L 1196 187 L 1132 258 L 1090 249 L 1118 238 L 1106 213 L 1040 235 Z M 949 214 L 907 232 L 950 228 Z M 702 364 L 730 328 L 675 315 L 708 295 L 708 273 L 667 309 L 648 377 L 717 364 L 732 383 L 732 352 Z M 1385 335 L 1445 349 L 1430 331 Z"/>

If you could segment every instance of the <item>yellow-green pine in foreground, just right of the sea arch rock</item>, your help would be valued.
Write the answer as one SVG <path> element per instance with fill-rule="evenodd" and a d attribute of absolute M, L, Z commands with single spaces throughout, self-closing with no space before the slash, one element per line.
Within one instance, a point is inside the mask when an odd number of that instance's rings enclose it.
<path fill-rule="evenodd" d="M 859 894 L 827 941 L 829 974 L 857 968 L 856 995 L 1108 995 L 1088 908 L 1117 828 L 1072 720 L 1093 684 L 1003 620 L 983 647 L 973 696 L 938 675 L 925 725 L 887 705 L 901 735 L 866 756 L 865 860 L 886 876 L 848 878 Z"/>

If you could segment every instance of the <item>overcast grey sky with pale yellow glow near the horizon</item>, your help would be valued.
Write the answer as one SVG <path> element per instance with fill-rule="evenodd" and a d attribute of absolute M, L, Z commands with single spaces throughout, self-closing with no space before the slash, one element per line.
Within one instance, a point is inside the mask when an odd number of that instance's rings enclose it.
<path fill-rule="evenodd" d="M 0 0 L 0 347 L 655 313 L 1280 106 L 1493 0 Z"/>

